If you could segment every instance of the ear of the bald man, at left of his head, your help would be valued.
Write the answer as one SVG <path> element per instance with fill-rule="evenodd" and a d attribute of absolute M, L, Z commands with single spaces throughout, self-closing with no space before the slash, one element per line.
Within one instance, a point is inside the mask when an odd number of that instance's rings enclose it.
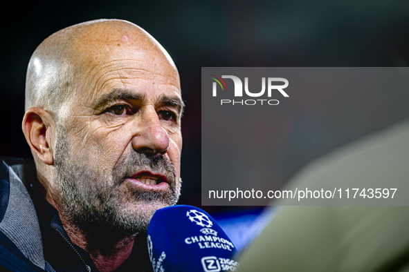
<path fill-rule="evenodd" d="M 44 162 L 54 163 L 51 139 L 55 130 L 53 117 L 42 108 L 29 108 L 23 119 L 23 133 L 33 153 Z"/>

